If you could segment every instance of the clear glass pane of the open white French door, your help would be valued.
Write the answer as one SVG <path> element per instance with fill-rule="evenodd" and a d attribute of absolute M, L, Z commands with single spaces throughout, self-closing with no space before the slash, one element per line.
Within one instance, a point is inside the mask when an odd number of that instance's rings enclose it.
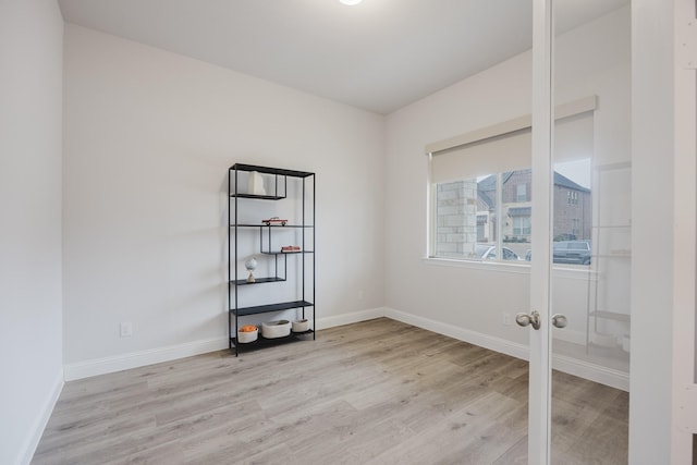
<path fill-rule="evenodd" d="M 627 462 L 629 2 L 554 0 L 551 463 Z"/>

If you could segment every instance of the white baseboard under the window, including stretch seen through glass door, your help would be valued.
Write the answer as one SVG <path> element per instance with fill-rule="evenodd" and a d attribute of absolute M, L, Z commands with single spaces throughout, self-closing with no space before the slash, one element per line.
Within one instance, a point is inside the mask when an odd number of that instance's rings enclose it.
<path fill-rule="evenodd" d="M 453 325 L 406 314 L 404 311 L 395 310 L 394 308 L 386 308 L 384 316 L 392 318 L 393 320 L 402 321 L 407 325 L 448 335 L 460 341 L 465 341 L 470 344 L 479 345 L 480 347 L 489 348 L 524 360 L 529 359 L 530 356 L 529 348 L 526 345 L 506 341 L 501 338 L 482 334 Z M 572 339 L 575 341 L 577 338 Z M 620 370 L 561 355 L 552 356 L 552 367 L 565 374 L 585 378 L 615 389 L 621 389 L 623 391 L 629 390 L 629 376 Z"/>

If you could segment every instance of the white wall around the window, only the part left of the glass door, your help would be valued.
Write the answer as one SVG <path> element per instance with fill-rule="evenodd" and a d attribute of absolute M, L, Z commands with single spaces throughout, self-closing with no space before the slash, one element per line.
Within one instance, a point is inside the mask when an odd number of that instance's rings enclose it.
<path fill-rule="evenodd" d="M 531 58 L 517 56 L 399 110 L 388 118 L 386 305 L 477 332 L 524 343 L 502 311 L 529 301 L 526 270 L 441 267 L 425 262 L 427 225 L 424 147 L 530 113 Z M 500 292 L 505 289 L 506 292 Z M 486 310 L 484 310 L 486 309 Z"/>

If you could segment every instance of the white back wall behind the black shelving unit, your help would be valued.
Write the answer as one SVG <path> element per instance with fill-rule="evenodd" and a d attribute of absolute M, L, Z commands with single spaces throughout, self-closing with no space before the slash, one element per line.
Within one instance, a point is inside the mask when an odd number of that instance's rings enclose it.
<path fill-rule="evenodd" d="M 317 172 L 318 319 L 382 305 L 383 117 L 71 24 L 64 79 L 68 378 L 227 346 L 235 162 Z"/>

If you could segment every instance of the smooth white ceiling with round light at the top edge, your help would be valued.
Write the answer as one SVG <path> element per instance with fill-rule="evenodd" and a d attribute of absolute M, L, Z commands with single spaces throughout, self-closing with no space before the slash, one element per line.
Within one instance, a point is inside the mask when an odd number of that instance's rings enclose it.
<path fill-rule="evenodd" d="M 557 0 L 561 29 L 628 0 Z M 66 22 L 390 113 L 531 47 L 533 0 L 59 0 Z"/>

